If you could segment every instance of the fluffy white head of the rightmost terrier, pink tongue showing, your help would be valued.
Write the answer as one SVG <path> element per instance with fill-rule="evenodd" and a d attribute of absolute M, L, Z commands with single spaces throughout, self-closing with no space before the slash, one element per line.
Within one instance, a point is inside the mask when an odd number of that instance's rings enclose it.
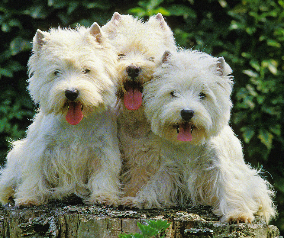
<path fill-rule="evenodd" d="M 223 57 L 166 51 L 153 79 L 144 84 L 153 132 L 174 143 L 203 144 L 216 136 L 230 119 L 230 73 Z"/>

